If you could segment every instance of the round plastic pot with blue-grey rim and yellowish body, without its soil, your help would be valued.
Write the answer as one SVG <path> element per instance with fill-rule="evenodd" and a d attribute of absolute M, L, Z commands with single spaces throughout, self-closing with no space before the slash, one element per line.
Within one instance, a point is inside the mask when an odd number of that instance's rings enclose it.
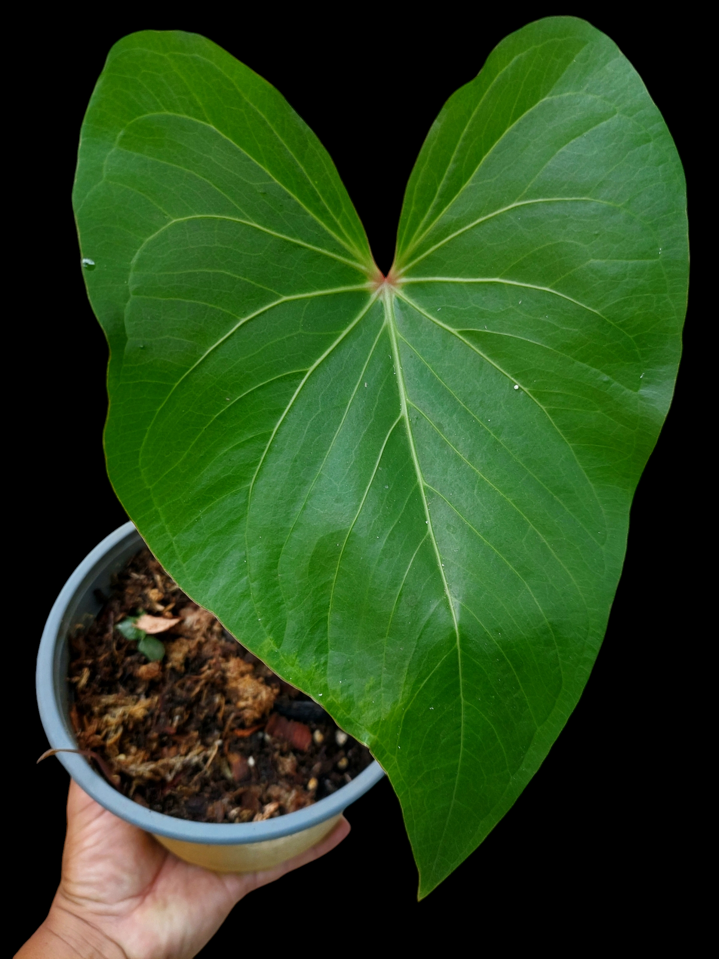
<path fill-rule="evenodd" d="M 37 653 L 37 705 L 53 749 L 77 749 L 69 718 L 67 682 L 68 633 L 100 611 L 95 590 L 109 591 L 110 577 L 144 546 L 132 523 L 106 536 L 70 576 L 53 606 Z M 155 838 L 187 862 L 217 872 L 248 873 L 267 869 L 305 852 L 334 829 L 343 810 L 354 803 L 384 773 L 378 762 L 367 766 L 351 783 L 313 806 L 261 823 L 194 823 L 139 806 L 105 782 L 87 760 L 58 753 L 76 783 L 105 809 Z"/>

